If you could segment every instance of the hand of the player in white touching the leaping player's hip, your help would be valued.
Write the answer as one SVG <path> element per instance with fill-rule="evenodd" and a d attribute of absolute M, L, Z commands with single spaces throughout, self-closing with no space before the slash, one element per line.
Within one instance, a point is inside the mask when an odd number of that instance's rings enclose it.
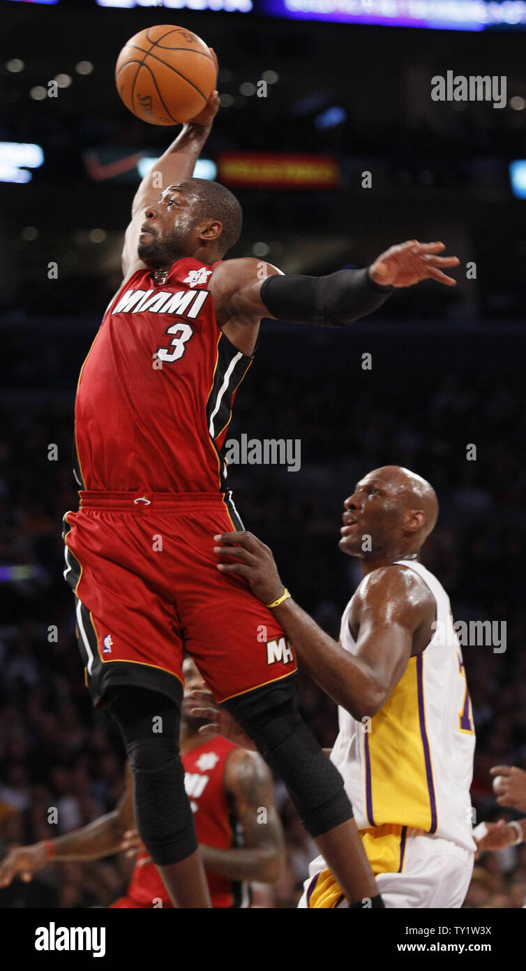
<path fill-rule="evenodd" d="M 273 603 L 281 596 L 283 585 L 279 580 L 278 567 L 272 550 L 269 550 L 257 536 L 245 530 L 239 533 L 221 533 L 214 536 L 214 552 L 221 562 L 217 569 L 221 573 L 243 577 L 251 587 L 252 593 L 264 604 Z M 237 563 L 225 563 L 224 558 L 235 558 Z"/>

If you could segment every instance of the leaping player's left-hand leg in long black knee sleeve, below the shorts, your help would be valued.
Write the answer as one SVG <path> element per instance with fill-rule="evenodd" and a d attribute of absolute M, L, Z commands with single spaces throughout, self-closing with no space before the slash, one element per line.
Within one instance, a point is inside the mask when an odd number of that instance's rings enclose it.
<path fill-rule="evenodd" d="M 108 691 L 134 781 L 139 835 L 178 907 L 210 907 L 179 746 L 180 706 L 146 687 Z"/>

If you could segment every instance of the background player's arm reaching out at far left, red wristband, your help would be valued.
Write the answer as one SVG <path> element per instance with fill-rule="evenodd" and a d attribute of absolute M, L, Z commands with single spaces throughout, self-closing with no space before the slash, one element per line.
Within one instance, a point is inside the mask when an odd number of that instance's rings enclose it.
<path fill-rule="evenodd" d="M 48 863 L 102 859 L 118 853 L 125 830 L 134 824 L 128 772 L 126 790 L 112 813 L 54 840 L 43 840 L 33 846 L 10 850 L 0 863 L 0 887 L 8 887 L 16 875 L 28 883 Z"/>

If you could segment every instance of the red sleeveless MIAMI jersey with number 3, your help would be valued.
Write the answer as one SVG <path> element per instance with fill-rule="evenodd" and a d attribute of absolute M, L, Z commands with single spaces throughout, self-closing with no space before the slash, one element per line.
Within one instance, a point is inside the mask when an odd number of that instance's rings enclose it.
<path fill-rule="evenodd" d="M 185 257 L 166 273 L 137 270 L 115 294 L 77 388 L 82 489 L 224 491 L 221 448 L 252 357 L 216 323 L 217 265 Z"/>

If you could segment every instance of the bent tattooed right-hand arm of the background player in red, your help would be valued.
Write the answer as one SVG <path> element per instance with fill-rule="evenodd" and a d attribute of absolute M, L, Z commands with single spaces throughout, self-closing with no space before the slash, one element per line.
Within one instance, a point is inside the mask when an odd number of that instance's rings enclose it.
<path fill-rule="evenodd" d="M 272 775 L 261 755 L 245 749 L 230 753 L 224 787 L 241 825 L 244 845 L 217 850 L 200 843 L 205 869 L 229 880 L 275 884 L 284 864 L 283 833 L 274 805 Z"/>

